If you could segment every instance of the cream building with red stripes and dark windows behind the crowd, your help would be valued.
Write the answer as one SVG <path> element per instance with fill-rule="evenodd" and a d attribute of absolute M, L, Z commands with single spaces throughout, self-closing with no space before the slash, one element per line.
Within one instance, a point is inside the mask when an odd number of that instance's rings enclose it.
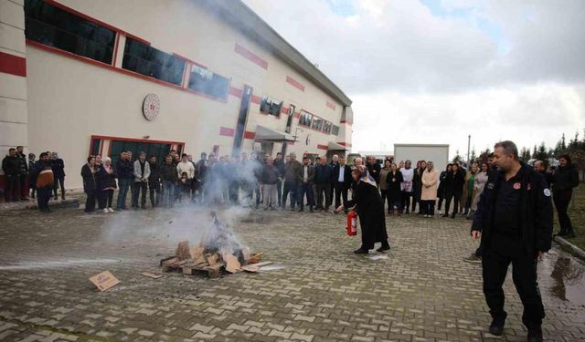
<path fill-rule="evenodd" d="M 0 0 L 0 153 L 342 153 L 351 100 L 239 0 Z"/>

